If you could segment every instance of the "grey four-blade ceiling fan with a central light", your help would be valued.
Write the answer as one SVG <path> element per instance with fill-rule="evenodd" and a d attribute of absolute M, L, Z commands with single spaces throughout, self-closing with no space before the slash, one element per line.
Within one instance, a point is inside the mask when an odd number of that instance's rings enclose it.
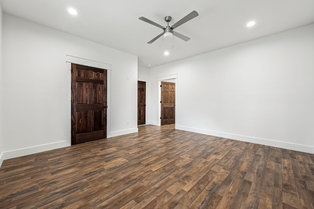
<path fill-rule="evenodd" d="M 144 21 L 146 23 L 150 23 L 150 24 L 153 24 L 157 27 L 160 27 L 161 29 L 163 29 L 163 32 L 160 33 L 159 35 L 157 35 L 155 38 L 153 38 L 151 41 L 147 42 L 147 44 L 152 44 L 154 41 L 156 41 L 159 37 L 161 37 L 162 35 L 164 35 L 164 37 L 166 36 L 172 36 L 172 35 L 175 35 L 177 36 L 178 38 L 182 39 L 183 41 L 188 41 L 190 40 L 189 37 L 187 36 L 184 36 L 183 34 L 181 33 L 178 33 L 176 31 L 173 31 L 173 29 L 179 27 L 180 25 L 182 25 L 183 23 L 186 23 L 187 21 L 190 21 L 192 20 L 193 18 L 197 17 L 198 16 L 198 13 L 196 11 L 192 11 L 191 13 L 189 13 L 188 15 L 186 15 L 184 18 L 182 18 L 180 21 L 178 21 L 177 23 L 174 23 L 172 26 L 169 26 L 169 22 L 172 20 L 172 18 L 170 16 L 167 16 L 165 17 L 165 21 L 167 22 L 167 26 L 164 27 L 158 23 L 155 23 L 151 20 L 148 20 L 147 18 L 144 18 L 144 17 L 140 17 L 138 18 L 139 20 L 141 21 Z"/>

